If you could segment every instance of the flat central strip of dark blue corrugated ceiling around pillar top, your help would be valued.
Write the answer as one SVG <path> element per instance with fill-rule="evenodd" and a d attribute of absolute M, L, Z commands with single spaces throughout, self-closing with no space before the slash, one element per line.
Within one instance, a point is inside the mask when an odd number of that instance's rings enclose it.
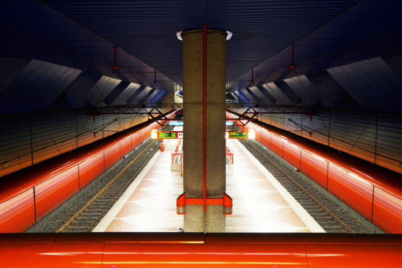
<path fill-rule="evenodd" d="M 211 29 L 233 33 L 227 45 L 227 81 L 274 56 L 358 3 L 356 0 L 119 2 L 44 1 L 181 84 L 176 32 Z M 208 12 L 208 17 L 207 17 Z M 207 22 L 208 19 L 208 22 Z"/>

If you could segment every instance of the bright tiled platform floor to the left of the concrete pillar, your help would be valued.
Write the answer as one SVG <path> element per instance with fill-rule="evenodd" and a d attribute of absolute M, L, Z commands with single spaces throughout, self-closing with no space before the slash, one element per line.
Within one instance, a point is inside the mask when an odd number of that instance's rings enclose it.
<path fill-rule="evenodd" d="M 166 140 L 166 147 L 176 141 Z M 170 151 L 155 153 L 94 232 L 177 232 L 184 227 L 183 216 L 176 214 L 183 177 L 170 171 Z"/>

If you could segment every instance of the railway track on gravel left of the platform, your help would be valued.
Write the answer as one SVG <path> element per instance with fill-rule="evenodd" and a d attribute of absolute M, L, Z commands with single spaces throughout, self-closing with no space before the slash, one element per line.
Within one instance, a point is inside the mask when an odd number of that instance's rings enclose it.
<path fill-rule="evenodd" d="M 159 148 L 154 140 L 56 232 L 90 232 L 113 207 Z"/>

